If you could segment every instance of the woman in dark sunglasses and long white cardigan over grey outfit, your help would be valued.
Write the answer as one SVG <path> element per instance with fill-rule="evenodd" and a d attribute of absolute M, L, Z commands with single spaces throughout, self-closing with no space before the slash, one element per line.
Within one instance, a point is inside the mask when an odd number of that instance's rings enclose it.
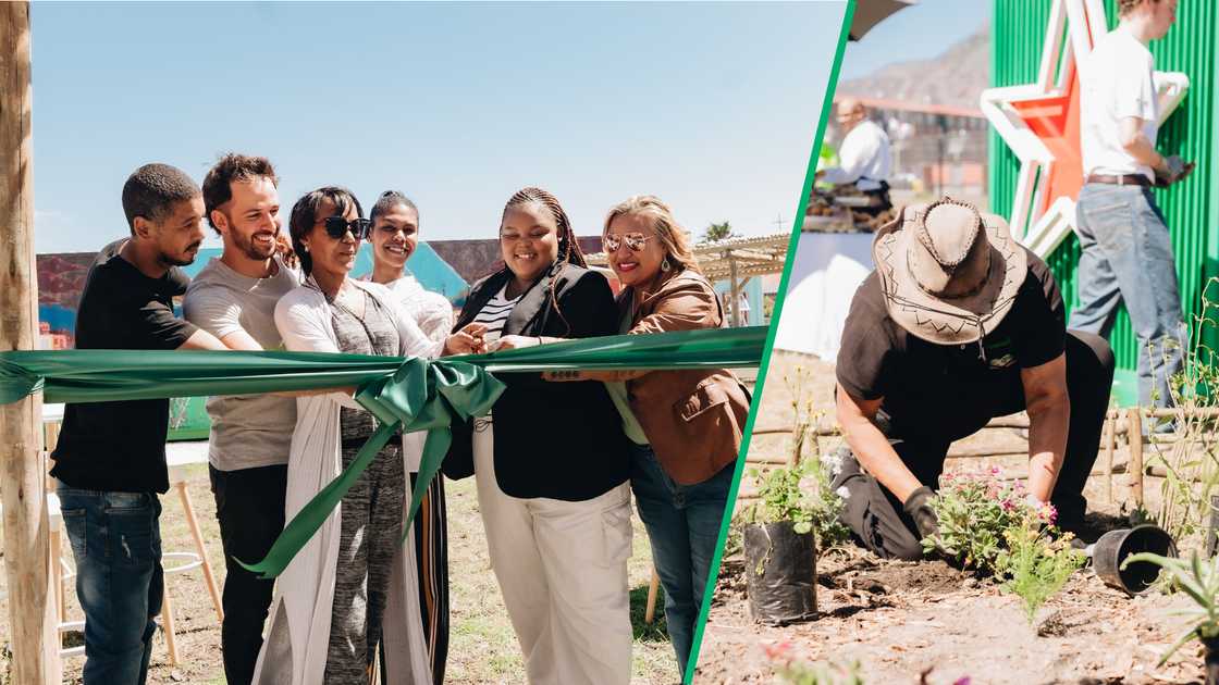
<path fill-rule="evenodd" d="M 368 229 L 346 189 L 319 188 L 297 200 L 289 234 L 306 279 L 275 306 L 284 345 L 419 357 L 480 347 L 477 327 L 429 340 L 389 290 L 349 278 Z M 374 428 L 347 392 L 297 399 L 289 520 L 351 463 Z M 430 685 L 419 605 L 407 601 L 418 597 L 414 545 L 399 545 L 408 483 L 402 445 L 390 440 L 275 584 L 256 683 L 368 683 L 384 639 L 389 681 Z"/>

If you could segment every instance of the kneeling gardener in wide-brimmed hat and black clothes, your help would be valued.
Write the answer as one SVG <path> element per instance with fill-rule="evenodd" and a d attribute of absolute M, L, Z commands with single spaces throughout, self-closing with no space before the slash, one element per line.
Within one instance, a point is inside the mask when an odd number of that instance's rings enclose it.
<path fill-rule="evenodd" d="M 1045 262 L 969 205 L 906 207 L 873 258 L 836 367 L 853 453 L 833 483 L 847 490 L 844 523 L 883 557 L 919 558 L 948 446 L 1026 410 L 1029 494 L 1078 529 L 1113 383 L 1108 344 L 1068 332 Z"/>

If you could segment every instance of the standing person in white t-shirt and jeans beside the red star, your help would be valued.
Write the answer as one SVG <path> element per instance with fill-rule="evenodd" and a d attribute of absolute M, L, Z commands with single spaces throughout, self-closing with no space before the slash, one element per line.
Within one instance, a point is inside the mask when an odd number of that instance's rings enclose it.
<path fill-rule="evenodd" d="M 1173 243 L 1151 186 L 1193 163 L 1156 151 L 1158 106 L 1148 44 L 1176 20 L 1176 0 L 1119 0 L 1118 28 L 1080 61 L 1085 184 L 1076 204 L 1079 305 L 1069 325 L 1107 336 L 1123 301 L 1139 338 L 1139 403 L 1171 403 L 1186 338 Z M 1170 424 L 1159 427 L 1170 428 Z"/>

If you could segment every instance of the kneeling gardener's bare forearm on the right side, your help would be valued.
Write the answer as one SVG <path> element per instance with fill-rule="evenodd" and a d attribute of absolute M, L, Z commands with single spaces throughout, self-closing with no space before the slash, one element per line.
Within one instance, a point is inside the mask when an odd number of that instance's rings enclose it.
<path fill-rule="evenodd" d="M 1024 403 L 1029 412 L 1029 492 L 1050 501 L 1067 452 L 1070 396 L 1067 394 L 1067 356 L 1020 369 Z"/>

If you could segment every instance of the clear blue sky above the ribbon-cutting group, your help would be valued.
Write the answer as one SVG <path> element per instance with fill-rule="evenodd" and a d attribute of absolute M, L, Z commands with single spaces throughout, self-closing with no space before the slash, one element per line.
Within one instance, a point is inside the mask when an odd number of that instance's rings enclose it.
<path fill-rule="evenodd" d="M 135 167 L 227 150 L 271 157 L 285 216 L 403 190 L 425 240 L 494 236 L 524 185 L 580 234 L 635 193 L 786 232 L 844 7 L 35 2 L 35 247 L 96 250 Z"/>

